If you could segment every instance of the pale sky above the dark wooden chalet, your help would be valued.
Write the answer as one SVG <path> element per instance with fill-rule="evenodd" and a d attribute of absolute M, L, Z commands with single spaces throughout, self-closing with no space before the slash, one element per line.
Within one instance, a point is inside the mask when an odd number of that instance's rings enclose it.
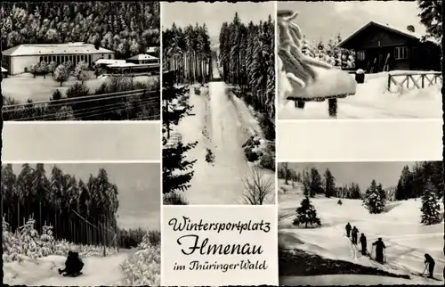
<path fill-rule="evenodd" d="M 325 42 L 340 33 L 350 36 L 369 21 L 388 23 L 400 29 L 413 25 L 416 32 L 425 33 L 425 26 L 417 17 L 417 2 L 408 1 L 324 1 L 324 2 L 279 2 L 278 9 L 300 12 L 295 23 L 312 41 Z"/>

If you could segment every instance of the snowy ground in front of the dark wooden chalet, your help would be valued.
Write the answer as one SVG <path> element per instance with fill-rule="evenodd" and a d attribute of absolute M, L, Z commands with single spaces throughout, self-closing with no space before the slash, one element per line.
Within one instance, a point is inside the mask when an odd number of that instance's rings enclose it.
<path fill-rule="evenodd" d="M 392 71 L 405 73 L 413 71 Z M 350 75 L 354 78 L 355 75 Z M 431 77 L 430 77 L 431 78 Z M 400 78 L 397 78 L 401 81 Z M 365 83 L 358 84 L 356 93 L 338 99 L 337 119 L 439 119 L 441 118 L 441 81 L 437 85 L 423 89 L 401 89 L 400 92 L 387 91 L 388 72 L 366 74 Z M 325 86 L 326 93 L 333 88 L 332 83 L 318 83 Z M 287 84 L 280 83 L 287 89 Z M 405 84 L 406 85 L 406 84 Z M 331 85 L 332 86 L 332 85 Z M 411 86 L 413 86 L 411 84 Z M 395 90 L 395 87 L 392 87 Z M 279 94 L 283 92 L 280 91 Z M 278 108 L 279 119 L 331 119 L 328 115 L 328 101 L 306 102 L 304 109 L 295 108 L 293 101 L 286 101 L 281 95 Z"/>

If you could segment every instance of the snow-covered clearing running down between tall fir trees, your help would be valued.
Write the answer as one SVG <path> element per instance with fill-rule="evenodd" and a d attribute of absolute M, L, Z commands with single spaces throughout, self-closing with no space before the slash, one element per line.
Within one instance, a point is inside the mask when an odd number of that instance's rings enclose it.
<path fill-rule="evenodd" d="M 203 88 L 201 94 L 195 94 L 190 86 L 189 103 L 193 109 L 178 125 L 183 143 L 198 141 L 188 152 L 190 160 L 198 161 L 185 198 L 190 204 L 241 204 L 242 180 L 250 174 L 242 145 L 249 131 L 261 133 L 261 129 L 247 105 L 228 95 L 224 82 L 211 82 L 208 90 L 208 95 L 203 94 Z M 207 149 L 214 154 L 213 163 L 206 162 Z M 274 182 L 272 171 L 261 171 Z"/>

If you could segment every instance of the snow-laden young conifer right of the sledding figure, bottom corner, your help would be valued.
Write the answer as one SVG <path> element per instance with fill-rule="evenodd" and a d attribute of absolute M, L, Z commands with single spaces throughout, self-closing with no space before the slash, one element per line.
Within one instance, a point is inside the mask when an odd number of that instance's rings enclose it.
<path fill-rule="evenodd" d="M 160 246 L 150 243 L 146 234 L 133 256 L 121 265 L 124 271 L 124 286 L 160 285 Z"/>

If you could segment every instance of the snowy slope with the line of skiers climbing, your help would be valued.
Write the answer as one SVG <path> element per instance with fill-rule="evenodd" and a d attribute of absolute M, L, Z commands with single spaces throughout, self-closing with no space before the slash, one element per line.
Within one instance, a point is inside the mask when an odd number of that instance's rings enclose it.
<path fill-rule="evenodd" d="M 280 181 L 282 184 L 282 181 Z M 287 185 L 288 187 L 288 185 Z M 411 280 L 368 275 L 326 275 L 326 276 L 286 276 L 280 278 L 280 284 L 441 284 L 443 258 L 443 223 L 437 225 L 420 224 L 420 199 L 409 201 L 390 201 L 386 212 L 371 215 L 360 200 L 342 199 L 343 205 L 337 205 L 338 199 L 316 197 L 312 204 L 321 219 L 320 228 L 296 227 L 292 224 L 295 209 L 303 200 L 302 187 L 295 184 L 295 189 L 287 193 L 279 192 L 279 245 L 287 249 L 304 250 L 323 258 L 349 261 L 361 266 L 371 266 L 392 274 L 409 275 Z M 443 206 L 441 206 L 443 210 Z M 442 211 L 443 212 L 443 211 Z M 360 254 L 359 250 L 344 235 L 344 226 L 350 222 L 357 226 L 360 233 L 371 243 L 382 237 L 386 245 L 386 263 L 380 265 Z M 435 260 L 434 277 L 441 281 L 421 277 L 425 268 L 424 254 L 429 253 Z M 372 254 L 375 256 L 374 252 Z"/>

